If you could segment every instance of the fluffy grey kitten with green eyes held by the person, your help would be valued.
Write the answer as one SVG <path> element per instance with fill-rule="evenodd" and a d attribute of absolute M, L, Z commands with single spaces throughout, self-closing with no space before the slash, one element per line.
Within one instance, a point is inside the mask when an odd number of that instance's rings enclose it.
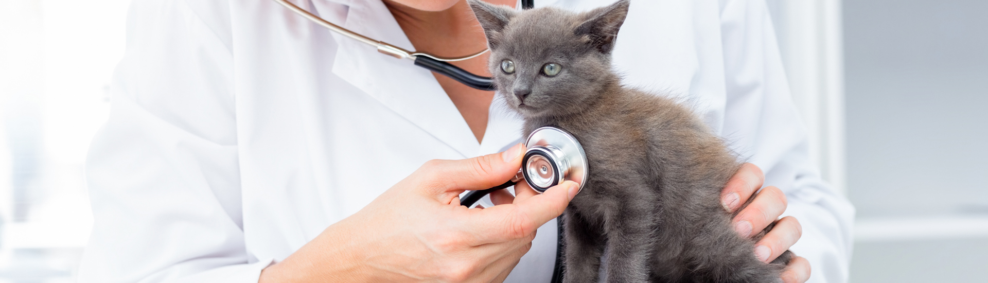
<path fill-rule="evenodd" d="M 563 214 L 564 282 L 600 281 L 605 253 L 608 282 L 781 282 L 791 253 L 758 260 L 720 204 L 736 156 L 690 109 L 620 84 L 611 51 L 627 0 L 580 14 L 468 2 L 524 134 L 558 127 L 586 150 L 590 176 Z"/>

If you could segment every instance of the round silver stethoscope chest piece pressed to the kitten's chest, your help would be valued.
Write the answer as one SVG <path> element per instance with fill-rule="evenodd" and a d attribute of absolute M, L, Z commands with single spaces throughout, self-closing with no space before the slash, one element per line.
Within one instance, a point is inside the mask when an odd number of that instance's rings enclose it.
<path fill-rule="evenodd" d="M 525 142 L 528 150 L 522 159 L 525 181 L 536 192 L 566 180 L 580 184 L 587 181 L 587 154 L 576 138 L 553 127 L 535 129 Z"/>

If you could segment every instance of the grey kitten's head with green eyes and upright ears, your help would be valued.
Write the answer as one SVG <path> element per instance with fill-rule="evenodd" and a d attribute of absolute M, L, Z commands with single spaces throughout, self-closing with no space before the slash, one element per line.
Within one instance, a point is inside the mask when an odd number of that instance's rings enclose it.
<path fill-rule="evenodd" d="M 489 68 L 497 93 L 524 117 L 579 112 L 614 82 L 611 50 L 628 0 L 579 14 L 467 2 L 491 48 Z"/>

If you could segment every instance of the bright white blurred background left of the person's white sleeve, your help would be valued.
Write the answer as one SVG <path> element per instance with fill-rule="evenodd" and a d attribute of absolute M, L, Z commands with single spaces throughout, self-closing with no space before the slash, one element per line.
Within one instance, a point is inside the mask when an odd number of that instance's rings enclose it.
<path fill-rule="evenodd" d="M 127 0 L 0 0 L 0 282 L 73 282 Z"/>

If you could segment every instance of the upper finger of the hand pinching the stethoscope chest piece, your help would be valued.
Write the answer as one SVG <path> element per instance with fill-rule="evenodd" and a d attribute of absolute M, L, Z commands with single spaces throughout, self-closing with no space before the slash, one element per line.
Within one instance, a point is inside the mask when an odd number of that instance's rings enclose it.
<path fill-rule="evenodd" d="M 507 182 L 522 167 L 522 143 L 499 153 L 459 160 L 432 160 L 423 165 L 427 185 L 437 196 L 459 194 L 466 190 L 488 189 Z"/>

